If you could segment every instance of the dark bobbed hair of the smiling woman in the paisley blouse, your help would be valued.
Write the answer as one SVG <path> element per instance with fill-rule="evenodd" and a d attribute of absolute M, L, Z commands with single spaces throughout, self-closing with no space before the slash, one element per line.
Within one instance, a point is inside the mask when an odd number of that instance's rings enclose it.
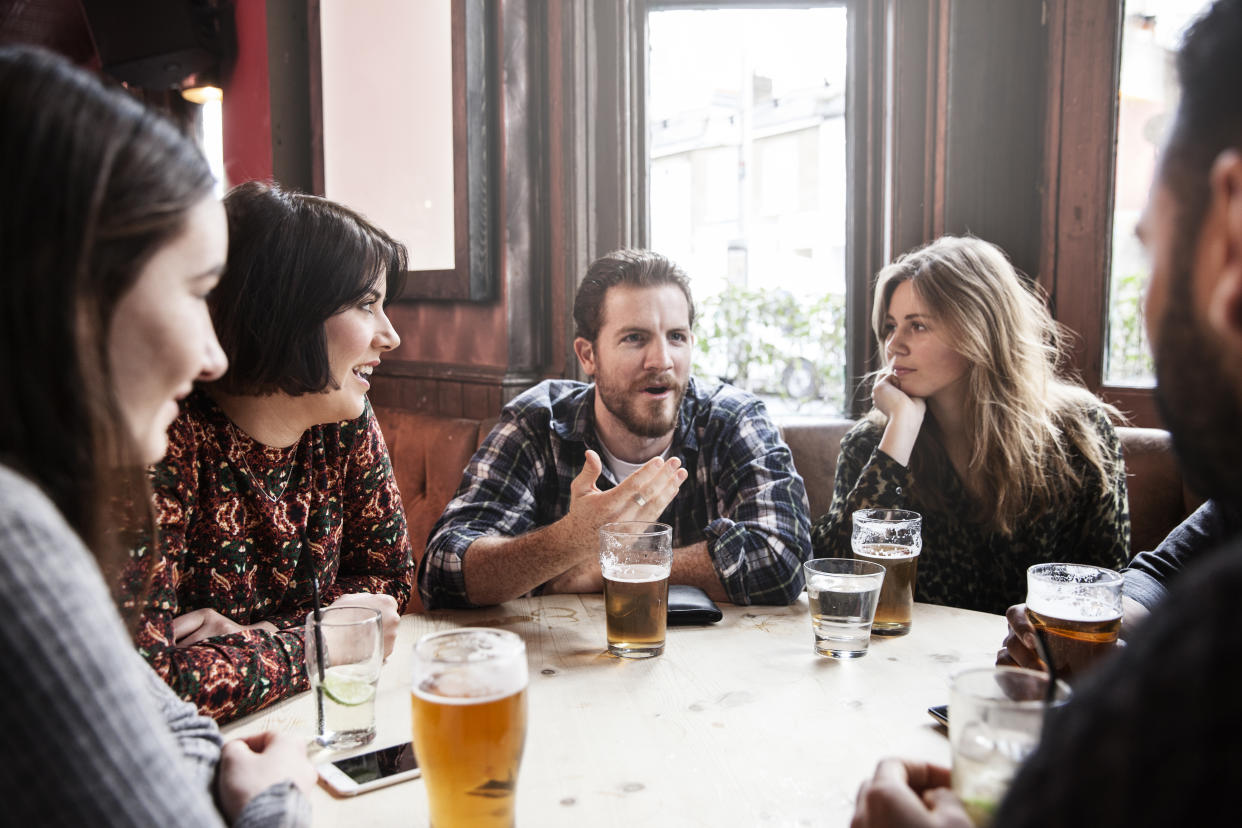
<path fill-rule="evenodd" d="M 405 246 L 328 199 L 247 181 L 225 196 L 229 266 L 211 319 L 229 356 L 226 394 L 317 394 L 332 384 L 324 323 L 385 281 L 405 281 Z"/>

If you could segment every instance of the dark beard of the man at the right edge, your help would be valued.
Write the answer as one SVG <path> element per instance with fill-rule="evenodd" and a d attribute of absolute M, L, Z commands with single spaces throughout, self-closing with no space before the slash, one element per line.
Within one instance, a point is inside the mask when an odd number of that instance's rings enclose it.
<path fill-rule="evenodd" d="M 1191 490 L 1242 505 L 1242 387 L 1226 371 L 1220 345 L 1194 318 L 1187 257 L 1176 258 L 1155 350 L 1156 407 Z"/>

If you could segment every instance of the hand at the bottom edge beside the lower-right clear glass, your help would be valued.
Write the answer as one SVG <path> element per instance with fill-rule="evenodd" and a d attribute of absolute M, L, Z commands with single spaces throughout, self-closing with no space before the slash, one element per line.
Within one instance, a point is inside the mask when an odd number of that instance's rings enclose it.
<path fill-rule="evenodd" d="M 971 828 L 961 801 L 949 790 L 949 768 L 886 758 L 858 788 L 850 828 Z"/>

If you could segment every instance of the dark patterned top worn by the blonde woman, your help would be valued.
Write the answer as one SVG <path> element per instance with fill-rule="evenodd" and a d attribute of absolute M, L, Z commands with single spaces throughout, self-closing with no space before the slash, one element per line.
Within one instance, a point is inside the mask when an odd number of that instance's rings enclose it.
<path fill-rule="evenodd" d="M 1130 556 L 1122 446 L 1103 411 L 1092 420 L 1114 459 L 1112 490 L 1105 490 L 1099 474 L 1078 456 L 1084 478 L 1082 490 L 1058 509 L 1027 515 L 1010 538 L 971 523 L 970 499 L 951 470 L 945 495 L 953 508 L 943 513 L 920 509 L 919 483 L 910 469 L 879 451 L 883 427 L 863 420 L 841 441 L 832 506 L 811 529 L 815 555 L 852 557 L 853 513 L 887 508 L 923 513 L 917 601 L 1004 613 L 1026 598 L 1026 570 L 1032 564 L 1076 562 L 1120 569 Z"/>

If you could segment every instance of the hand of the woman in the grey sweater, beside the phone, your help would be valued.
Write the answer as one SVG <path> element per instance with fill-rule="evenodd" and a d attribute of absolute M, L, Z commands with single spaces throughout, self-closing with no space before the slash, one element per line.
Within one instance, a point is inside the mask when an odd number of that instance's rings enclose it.
<path fill-rule="evenodd" d="M 267 731 L 225 742 L 220 750 L 216 792 L 230 823 L 247 802 L 284 781 L 292 781 L 306 796 L 314 788 L 315 771 L 307 760 L 304 739 Z"/>

